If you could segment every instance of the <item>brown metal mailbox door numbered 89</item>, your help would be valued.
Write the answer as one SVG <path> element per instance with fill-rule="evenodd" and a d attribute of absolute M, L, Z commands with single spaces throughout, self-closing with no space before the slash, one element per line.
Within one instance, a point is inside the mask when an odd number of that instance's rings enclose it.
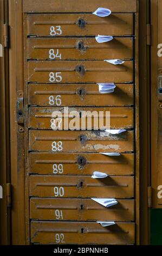
<path fill-rule="evenodd" d="M 134 154 L 108 156 L 96 153 L 30 153 L 29 173 L 85 175 L 94 171 L 108 175 L 134 174 Z"/>

